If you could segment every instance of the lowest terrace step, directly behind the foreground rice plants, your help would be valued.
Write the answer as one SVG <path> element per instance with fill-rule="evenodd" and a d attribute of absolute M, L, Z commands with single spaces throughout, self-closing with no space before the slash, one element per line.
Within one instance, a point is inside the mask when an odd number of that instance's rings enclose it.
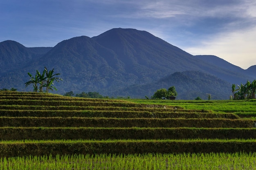
<path fill-rule="evenodd" d="M 0 157 L 144 154 L 144 153 L 256 152 L 254 140 L 49 140 L 0 141 Z"/>

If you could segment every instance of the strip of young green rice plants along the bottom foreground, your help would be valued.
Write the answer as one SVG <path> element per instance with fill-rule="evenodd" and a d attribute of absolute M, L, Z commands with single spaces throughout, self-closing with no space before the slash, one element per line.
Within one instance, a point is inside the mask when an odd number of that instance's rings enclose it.
<path fill-rule="evenodd" d="M 254 170 L 255 153 L 96 154 L 10 157 L 0 169 L 74 170 Z"/>

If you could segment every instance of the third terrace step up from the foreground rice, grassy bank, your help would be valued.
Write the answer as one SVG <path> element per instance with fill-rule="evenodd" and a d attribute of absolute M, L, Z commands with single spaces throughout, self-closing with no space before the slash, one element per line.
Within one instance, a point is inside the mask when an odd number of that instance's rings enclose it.
<path fill-rule="evenodd" d="M 253 128 L 249 119 L 0 117 L 0 127 Z"/>

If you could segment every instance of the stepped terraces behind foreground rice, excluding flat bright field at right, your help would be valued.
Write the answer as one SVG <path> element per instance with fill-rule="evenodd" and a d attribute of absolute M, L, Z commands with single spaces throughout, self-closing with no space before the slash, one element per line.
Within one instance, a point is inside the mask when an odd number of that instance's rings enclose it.
<path fill-rule="evenodd" d="M 255 119 L 179 106 L 0 92 L 0 157 L 256 152 Z"/>

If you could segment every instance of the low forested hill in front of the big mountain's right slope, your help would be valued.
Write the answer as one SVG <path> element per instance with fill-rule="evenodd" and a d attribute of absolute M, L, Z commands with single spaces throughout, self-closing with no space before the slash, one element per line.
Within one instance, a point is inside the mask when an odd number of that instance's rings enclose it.
<path fill-rule="evenodd" d="M 178 93 L 176 99 L 193 100 L 198 96 L 207 99 L 207 94 L 211 94 L 212 99 L 229 99 L 232 94 L 230 83 L 200 71 L 175 72 L 150 84 L 129 86 L 120 91 L 120 94 L 130 96 L 136 91 L 136 97 L 151 97 L 152 91 L 171 86 L 175 86 Z"/>

